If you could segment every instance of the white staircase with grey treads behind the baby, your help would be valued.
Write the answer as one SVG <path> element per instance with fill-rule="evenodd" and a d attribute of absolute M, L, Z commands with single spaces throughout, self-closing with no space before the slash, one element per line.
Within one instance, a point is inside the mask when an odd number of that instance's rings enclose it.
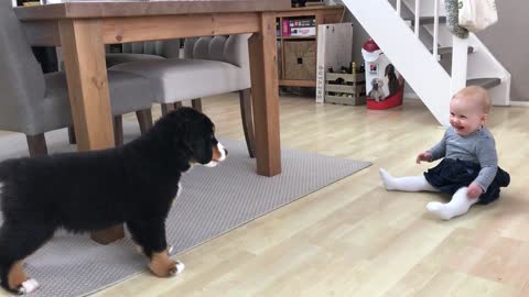
<path fill-rule="evenodd" d="M 440 0 L 342 0 L 435 119 L 449 125 L 449 103 L 465 86 L 510 103 L 510 74 L 474 34 L 452 35 Z M 411 18 L 401 15 L 410 14 Z"/>

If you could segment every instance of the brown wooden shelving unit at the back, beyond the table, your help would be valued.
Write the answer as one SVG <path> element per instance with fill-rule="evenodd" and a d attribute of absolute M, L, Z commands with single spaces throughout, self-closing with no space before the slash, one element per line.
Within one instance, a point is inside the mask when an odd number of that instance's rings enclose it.
<path fill-rule="evenodd" d="M 311 42 L 314 43 L 314 62 L 316 58 L 316 44 L 317 44 L 317 25 L 328 23 L 339 23 L 344 15 L 344 7 L 342 6 L 311 6 L 305 8 L 292 8 L 289 10 L 276 12 L 279 23 L 279 36 L 278 36 L 278 56 L 279 66 L 279 86 L 290 87 L 316 87 L 316 64 L 314 63 L 314 78 L 291 79 L 285 75 L 287 55 L 285 45 L 289 42 Z M 316 34 L 311 36 L 282 36 L 283 32 L 283 19 L 295 18 L 314 18 L 316 23 Z M 306 43 L 305 43 L 306 44 Z M 311 53 L 312 54 L 312 53 Z M 312 67 L 310 69 L 312 72 Z"/>

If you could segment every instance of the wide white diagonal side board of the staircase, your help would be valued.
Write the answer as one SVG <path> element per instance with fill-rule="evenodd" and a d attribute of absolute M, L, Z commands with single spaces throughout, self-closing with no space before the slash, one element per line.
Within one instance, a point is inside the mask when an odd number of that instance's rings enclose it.
<path fill-rule="evenodd" d="M 449 124 L 451 77 L 387 0 L 342 0 L 435 119 Z"/>

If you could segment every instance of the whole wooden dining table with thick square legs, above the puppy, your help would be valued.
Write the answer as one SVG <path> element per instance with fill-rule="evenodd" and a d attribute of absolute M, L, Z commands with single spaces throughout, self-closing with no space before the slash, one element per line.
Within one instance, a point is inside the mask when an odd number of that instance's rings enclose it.
<path fill-rule="evenodd" d="M 62 46 L 79 151 L 114 146 L 105 44 L 253 33 L 249 51 L 257 173 L 274 176 L 281 173 L 276 16 L 259 10 L 287 9 L 290 0 L 259 1 L 134 2 L 120 7 L 72 2 L 14 10 L 32 45 Z M 123 237 L 123 228 L 91 235 L 97 242 L 109 243 Z"/>

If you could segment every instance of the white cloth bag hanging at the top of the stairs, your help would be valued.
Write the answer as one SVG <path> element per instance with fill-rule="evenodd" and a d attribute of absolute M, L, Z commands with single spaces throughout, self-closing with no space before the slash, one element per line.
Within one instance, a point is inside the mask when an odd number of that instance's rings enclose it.
<path fill-rule="evenodd" d="M 498 21 L 494 0 L 458 0 L 458 23 L 471 32 L 482 31 Z"/>

